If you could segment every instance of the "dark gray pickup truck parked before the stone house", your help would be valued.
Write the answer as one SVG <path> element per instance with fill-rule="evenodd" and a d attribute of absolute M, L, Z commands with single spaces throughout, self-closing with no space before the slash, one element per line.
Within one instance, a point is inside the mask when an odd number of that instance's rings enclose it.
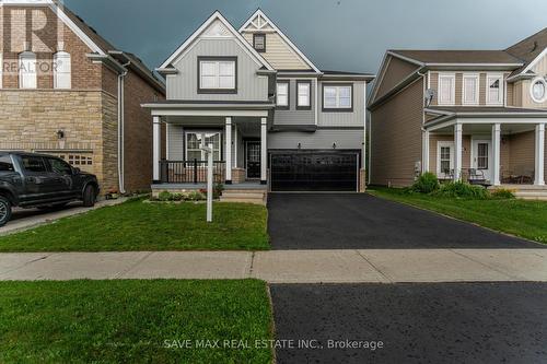
<path fill-rule="evenodd" d="M 13 207 L 51 209 L 71 201 L 92 207 L 98 196 L 94 175 L 45 154 L 0 152 L 0 226 Z"/>

